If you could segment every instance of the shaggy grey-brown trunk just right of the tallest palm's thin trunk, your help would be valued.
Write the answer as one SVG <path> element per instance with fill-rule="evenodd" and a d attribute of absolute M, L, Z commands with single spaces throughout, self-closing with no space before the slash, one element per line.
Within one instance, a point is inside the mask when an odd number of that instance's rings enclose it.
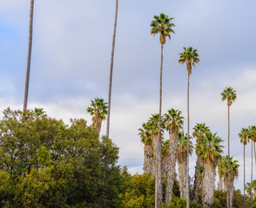
<path fill-rule="evenodd" d="M 172 200 L 172 189 L 174 185 L 175 177 L 175 166 L 177 158 L 177 147 L 178 147 L 178 131 L 172 128 L 169 131 L 170 141 L 169 141 L 169 151 L 167 153 L 167 158 L 170 159 L 168 163 L 167 170 L 167 180 L 166 180 L 166 194 L 165 194 L 165 203 L 169 205 Z"/>

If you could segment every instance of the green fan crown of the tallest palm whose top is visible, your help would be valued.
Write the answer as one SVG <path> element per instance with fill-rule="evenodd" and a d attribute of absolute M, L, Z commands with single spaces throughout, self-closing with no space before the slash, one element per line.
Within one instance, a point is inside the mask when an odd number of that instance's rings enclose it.
<path fill-rule="evenodd" d="M 151 23 L 151 34 L 155 36 L 156 34 L 160 34 L 160 43 L 165 44 L 165 36 L 168 36 L 171 40 L 171 34 L 175 33 L 172 30 L 172 27 L 175 26 L 174 23 L 172 23 L 173 17 L 169 17 L 165 14 L 160 14 L 159 16 L 154 16 L 154 19 Z"/>

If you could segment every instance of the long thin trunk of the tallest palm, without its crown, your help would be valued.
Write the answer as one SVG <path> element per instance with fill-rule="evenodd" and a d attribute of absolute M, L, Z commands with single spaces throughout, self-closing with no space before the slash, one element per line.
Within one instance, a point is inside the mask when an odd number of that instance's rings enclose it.
<path fill-rule="evenodd" d="M 159 172 L 159 169 L 161 170 L 161 164 L 160 161 L 160 140 L 161 140 L 161 114 L 162 114 L 162 75 L 163 75 L 163 49 L 164 45 L 161 44 L 161 66 L 160 66 L 160 90 L 159 90 L 159 120 L 158 120 L 158 153 L 157 153 L 157 164 L 156 164 L 156 188 L 155 188 L 155 208 L 158 208 L 158 206 L 162 202 L 162 190 L 161 190 L 161 184 L 162 184 L 162 177 L 161 177 L 161 171 Z"/>

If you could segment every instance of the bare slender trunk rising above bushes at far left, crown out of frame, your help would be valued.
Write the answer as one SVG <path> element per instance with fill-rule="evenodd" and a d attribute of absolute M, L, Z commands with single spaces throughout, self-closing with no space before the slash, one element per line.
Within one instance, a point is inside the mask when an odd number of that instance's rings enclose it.
<path fill-rule="evenodd" d="M 26 81 L 25 81 L 25 90 L 24 90 L 24 111 L 27 110 L 28 96 L 29 96 L 30 62 L 31 62 L 31 52 L 32 52 L 32 36 L 33 36 L 33 16 L 34 16 L 34 0 L 30 0 L 30 35 L 29 35 Z"/>

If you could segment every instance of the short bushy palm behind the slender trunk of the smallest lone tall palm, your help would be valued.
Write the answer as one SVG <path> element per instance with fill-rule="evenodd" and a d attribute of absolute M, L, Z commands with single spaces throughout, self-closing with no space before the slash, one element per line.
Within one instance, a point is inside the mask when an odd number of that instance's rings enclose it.
<path fill-rule="evenodd" d="M 229 164 L 230 164 L 230 207 L 232 207 L 232 194 L 233 194 L 233 182 L 234 179 L 237 179 L 239 176 L 239 161 L 238 160 L 233 160 L 232 157 L 229 158 Z M 228 178 L 228 156 L 226 155 L 223 157 L 223 159 L 220 162 L 219 166 L 219 172 L 220 172 L 220 177 L 224 179 L 224 187 L 225 191 L 227 191 L 227 178 Z"/>

